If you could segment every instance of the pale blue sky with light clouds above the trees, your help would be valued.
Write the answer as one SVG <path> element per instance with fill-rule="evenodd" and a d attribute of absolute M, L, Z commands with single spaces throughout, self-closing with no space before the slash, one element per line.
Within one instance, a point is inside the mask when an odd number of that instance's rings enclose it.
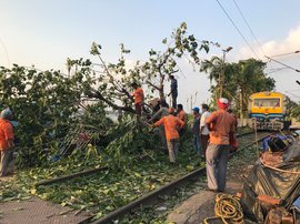
<path fill-rule="evenodd" d="M 92 41 L 102 45 L 107 62 L 118 60 L 119 44 L 124 43 L 131 50 L 130 64 L 147 60 L 150 49 L 163 51 L 162 39 L 184 21 L 197 39 L 221 44 L 203 59 L 221 57 L 228 47 L 233 48 L 228 62 L 261 59 L 277 81 L 276 90 L 300 101 L 300 73 L 264 57 L 300 50 L 299 11 L 299 0 L 0 0 L 0 65 L 66 72 L 67 58 L 98 62 L 89 54 Z M 273 59 L 300 70 L 300 53 Z M 180 67 L 178 102 L 188 108 L 208 102 L 208 75 L 194 72 L 187 61 Z"/>

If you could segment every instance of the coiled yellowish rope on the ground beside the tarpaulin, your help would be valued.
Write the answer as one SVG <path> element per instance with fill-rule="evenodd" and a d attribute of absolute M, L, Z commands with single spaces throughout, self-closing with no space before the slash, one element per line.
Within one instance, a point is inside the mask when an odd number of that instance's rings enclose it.
<path fill-rule="evenodd" d="M 217 194 L 214 205 L 216 217 L 207 217 L 204 224 L 209 224 L 209 220 L 220 218 L 224 224 L 243 224 L 243 212 L 239 198 L 230 194 Z"/>

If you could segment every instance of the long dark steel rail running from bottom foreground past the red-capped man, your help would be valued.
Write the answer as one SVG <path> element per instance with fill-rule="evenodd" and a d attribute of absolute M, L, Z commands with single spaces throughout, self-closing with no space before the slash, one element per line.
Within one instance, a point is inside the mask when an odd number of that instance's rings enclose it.
<path fill-rule="evenodd" d="M 257 142 L 261 142 L 263 139 L 266 139 L 269 135 L 270 134 L 247 144 L 246 146 L 238 150 L 236 153 L 239 153 L 240 151 L 244 150 L 246 147 L 252 146 Z M 124 214 L 128 214 L 133 208 L 141 206 L 141 205 L 152 204 L 151 202 L 157 201 L 158 196 L 169 194 L 172 190 L 178 189 L 179 186 L 182 186 L 182 185 L 187 185 L 194 177 L 202 175 L 204 172 L 206 172 L 206 166 L 200 167 L 196 171 L 192 171 L 191 173 L 186 174 L 184 176 L 181 176 L 181 177 L 177 179 L 176 181 L 172 181 L 169 184 L 161 186 L 160 189 L 157 189 L 157 190 L 146 194 L 142 197 L 137 198 L 136 201 L 133 201 L 133 202 L 131 202 L 122 207 L 119 207 L 118 210 L 114 210 L 113 212 L 101 217 L 100 220 L 94 221 L 92 224 L 113 223 L 114 220 L 122 217 Z M 80 224 L 88 223 L 91 220 L 92 220 L 92 217 L 89 217 L 88 220 L 81 222 Z"/>

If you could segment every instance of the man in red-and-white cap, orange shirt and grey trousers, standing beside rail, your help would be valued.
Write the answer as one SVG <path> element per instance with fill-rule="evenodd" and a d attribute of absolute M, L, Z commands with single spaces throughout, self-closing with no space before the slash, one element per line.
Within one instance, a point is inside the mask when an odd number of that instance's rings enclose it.
<path fill-rule="evenodd" d="M 210 131 L 210 143 L 207 149 L 208 190 L 223 192 L 226 189 L 227 162 L 230 150 L 229 135 L 236 131 L 234 119 L 226 110 L 230 102 L 220 98 L 218 111 L 206 120 Z"/>

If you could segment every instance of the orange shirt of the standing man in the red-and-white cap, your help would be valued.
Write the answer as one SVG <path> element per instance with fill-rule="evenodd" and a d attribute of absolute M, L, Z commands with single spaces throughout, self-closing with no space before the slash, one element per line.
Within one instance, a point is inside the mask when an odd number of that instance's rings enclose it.
<path fill-rule="evenodd" d="M 212 112 L 206 120 L 210 128 L 209 141 L 212 144 L 229 144 L 229 133 L 236 131 L 234 118 L 226 110 Z"/>

